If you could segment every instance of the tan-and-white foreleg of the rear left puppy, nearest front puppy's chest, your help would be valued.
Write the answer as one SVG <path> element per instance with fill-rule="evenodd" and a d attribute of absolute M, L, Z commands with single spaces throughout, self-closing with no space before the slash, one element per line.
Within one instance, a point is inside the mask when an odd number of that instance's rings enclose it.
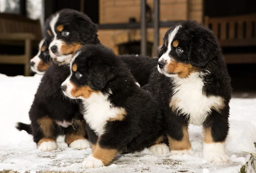
<path fill-rule="evenodd" d="M 90 142 L 86 137 L 86 123 L 84 120 L 73 119 L 73 127 L 65 129 L 65 142 L 73 149 L 86 149 L 90 147 Z"/>

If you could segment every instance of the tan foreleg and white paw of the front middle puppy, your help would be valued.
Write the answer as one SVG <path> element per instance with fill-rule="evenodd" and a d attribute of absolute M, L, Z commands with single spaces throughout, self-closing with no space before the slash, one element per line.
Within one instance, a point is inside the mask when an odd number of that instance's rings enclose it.
<path fill-rule="evenodd" d="M 96 144 L 93 154 L 84 159 L 83 167 L 101 167 L 109 164 L 118 155 L 118 150 L 109 149 Z"/>

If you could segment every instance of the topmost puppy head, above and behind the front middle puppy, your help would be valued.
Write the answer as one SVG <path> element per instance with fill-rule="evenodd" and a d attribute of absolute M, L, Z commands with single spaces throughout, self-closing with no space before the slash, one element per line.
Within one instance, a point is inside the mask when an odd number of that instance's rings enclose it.
<path fill-rule="evenodd" d="M 46 22 L 49 54 L 56 62 L 69 64 L 73 54 L 87 43 L 99 43 L 97 25 L 86 14 L 63 9 Z"/>

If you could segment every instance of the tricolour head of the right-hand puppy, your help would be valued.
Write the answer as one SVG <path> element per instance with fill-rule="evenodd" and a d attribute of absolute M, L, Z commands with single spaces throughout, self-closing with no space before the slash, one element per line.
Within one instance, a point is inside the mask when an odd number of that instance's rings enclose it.
<path fill-rule="evenodd" d="M 166 32 L 157 68 L 168 77 L 189 77 L 204 69 L 220 53 L 212 31 L 193 20 L 186 20 Z"/>

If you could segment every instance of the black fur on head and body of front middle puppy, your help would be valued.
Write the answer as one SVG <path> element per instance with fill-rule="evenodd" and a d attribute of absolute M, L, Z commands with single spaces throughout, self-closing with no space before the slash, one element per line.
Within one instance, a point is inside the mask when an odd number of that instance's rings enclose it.
<path fill-rule="evenodd" d="M 116 149 L 120 153 L 134 152 L 150 147 L 163 135 L 162 115 L 156 102 L 135 84 L 131 72 L 113 51 L 102 45 L 85 45 L 72 64 L 77 65 L 77 70 L 72 70 L 70 82 L 76 88 L 89 86 L 108 95 L 113 108 L 126 111 L 124 119 L 107 122 L 105 132 L 100 136 L 87 122 L 88 136 L 94 145 L 98 143 L 100 147 Z M 82 77 L 78 77 L 79 73 Z M 67 86 L 65 82 L 63 85 Z M 84 111 L 86 119 L 90 110 L 85 107 Z"/>

